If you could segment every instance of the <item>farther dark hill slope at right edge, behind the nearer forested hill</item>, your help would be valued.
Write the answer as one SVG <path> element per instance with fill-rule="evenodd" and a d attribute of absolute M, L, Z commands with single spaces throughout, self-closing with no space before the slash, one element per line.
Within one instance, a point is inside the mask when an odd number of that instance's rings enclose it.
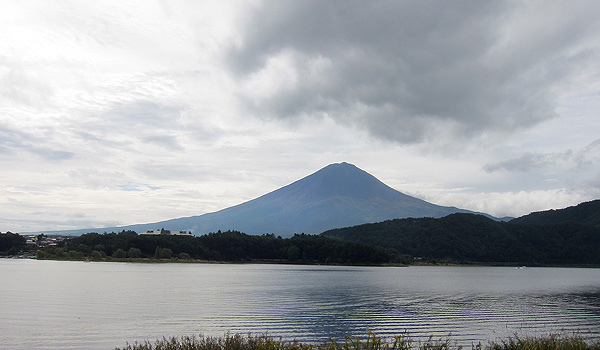
<path fill-rule="evenodd" d="M 550 225 L 568 221 L 600 227 L 600 199 L 580 203 L 576 206 L 564 209 L 553 209 L 531 213 L 513 219 L 510 222 L 513 224 L 526 225 Z"/>

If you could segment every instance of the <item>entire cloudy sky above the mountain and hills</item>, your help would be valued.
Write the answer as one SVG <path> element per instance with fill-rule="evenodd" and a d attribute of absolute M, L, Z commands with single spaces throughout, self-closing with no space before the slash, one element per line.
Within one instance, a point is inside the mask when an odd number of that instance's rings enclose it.
<path fill-rule="evenodd" d="M 0 3 L 0 231 L 199 215 L 349 162 L 496 216 L 600 198 L 600 2 Z"/>

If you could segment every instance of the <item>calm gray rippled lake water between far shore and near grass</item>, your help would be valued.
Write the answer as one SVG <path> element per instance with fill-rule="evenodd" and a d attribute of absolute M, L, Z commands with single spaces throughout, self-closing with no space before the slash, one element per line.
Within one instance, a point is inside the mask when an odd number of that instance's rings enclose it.
<path fill-rule="evenodd" d="M 113 349 L 163 336 L 308 342 L 368 330 L 460 344 L 600 338 L 600 269 L 130 264 L 0 259 L 1 349 Z"/>

